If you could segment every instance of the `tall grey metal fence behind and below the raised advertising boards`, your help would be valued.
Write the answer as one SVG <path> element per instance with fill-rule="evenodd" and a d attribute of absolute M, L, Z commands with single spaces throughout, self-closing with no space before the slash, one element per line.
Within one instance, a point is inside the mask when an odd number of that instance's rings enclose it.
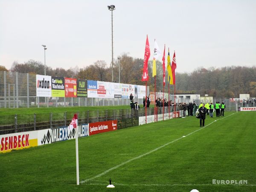
<path fill-rule="evenodd" d="M 130 105 L 123 98 L 37 97 L 35 81 L 35 74 L 0 71 L 0 108 Z"/>

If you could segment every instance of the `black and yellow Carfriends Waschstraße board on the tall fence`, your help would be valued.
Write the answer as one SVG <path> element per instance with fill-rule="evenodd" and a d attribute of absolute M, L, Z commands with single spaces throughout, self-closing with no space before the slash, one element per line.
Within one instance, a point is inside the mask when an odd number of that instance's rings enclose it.
<path fill-rule="evenodd" d="M 52 77 L 52 97 L 64 97 L 65 87 L 63 77 Z"/>

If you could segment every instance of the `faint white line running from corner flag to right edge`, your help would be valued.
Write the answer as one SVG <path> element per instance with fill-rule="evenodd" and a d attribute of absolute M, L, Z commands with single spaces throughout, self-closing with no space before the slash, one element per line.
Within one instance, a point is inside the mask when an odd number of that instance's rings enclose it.
<path fill-rule="evenodd" d="M 112 182 L 113 183 L 113 182 Z M 203 183 L 203 184 L 192 184 L 192 183 L 188 183 L 188 184 L 122 184 L 122 183 L 113 183 L 116 186 L 227 186 L 227 185 L 231 185 L 231 186 L 256 186 L 255 184 L 207 184 L 207 183 Z M 105 186 L 106 184 L 102 184 L 102 183 L 86 183 L 86 185 L 103 185 Z"/>

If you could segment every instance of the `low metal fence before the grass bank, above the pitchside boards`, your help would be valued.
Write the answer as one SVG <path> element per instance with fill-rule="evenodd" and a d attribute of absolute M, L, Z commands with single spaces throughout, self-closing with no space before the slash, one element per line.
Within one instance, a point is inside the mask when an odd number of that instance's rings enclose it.
<path fill-rule="evenodd" d="M 176 111 L 181 110 L 177 106 Z M 174 111 L 174 106 L 170 106 L 170 112 Z M 164 108 L 164 113 L 168 113 L 169 108 Z M 145 108 L 136 109 L 113 109 L 113 110 L 95 110 L 95 111 L 77 111 L 79 124 L 109 121 L 123 118 L 132 118 L 145 116 Z M 163 108 L 158 108 L 157 114 L 162 115 Z M 153 115 L 154 108 L 147 108 L 147 115 Z M 74 112 L 63 113 L 34 113 L 20 115 L 6 115 L 0 117 L 0 135 L 23 131 L 35 131 L 47 128 L 57 128 L 67 126 Z"/>

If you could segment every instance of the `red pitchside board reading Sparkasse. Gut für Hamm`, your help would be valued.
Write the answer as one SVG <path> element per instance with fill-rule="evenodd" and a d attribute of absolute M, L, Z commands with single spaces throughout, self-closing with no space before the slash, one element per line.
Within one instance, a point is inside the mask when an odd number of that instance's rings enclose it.
<path fill-rule="evenodd" d="M 89 135 L 117 130 L 117 120 L 89 123 Z"/>

